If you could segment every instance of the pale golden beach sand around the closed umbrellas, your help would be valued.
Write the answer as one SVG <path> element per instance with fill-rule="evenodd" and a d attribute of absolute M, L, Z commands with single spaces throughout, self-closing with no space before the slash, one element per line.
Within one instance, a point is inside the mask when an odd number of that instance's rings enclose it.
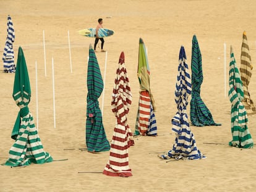
<path fill-rule="evenodd" d="M 255 149 L 228 146 L 231 140 L 231 104 L 224 96 L 223 43 L 232 44 L 240 65 L 242 33 L 247 31 L 252 62 L 256 61 L 256 1 L 0 1 L 0 54 L 6 40 L 7 15 L 15 28 L 15 61 L 22 46 L 28 65 L 32 100 L 30 111 L 36 119 L 35 61 L 38 62 L 39 134 L 45 151 L 54 159 L 68 161 L 32 164 L 23 168 L 0 166 L 0 191 L 254 191 Z M 111 91 L 121 51 L 126 56 L 133 100 L 129 125 L 134 131 L 139 101 L 137 59 L 139 38 L 148 48 L 151 90 L 156 100 L 156 121 L 160 136 L 139 137 L 129 149 L 133 177 L 107 177 L 101 173 L 109 152 L 90 154 L 85 148 L 87 96 L 87 56 L 93 38 L 78 35 L 82 28 L 95 27 L 99 17 L 103 25 L 115 31 L 105 38 L 108 51 L 103 121 L 111 140 L 115 123 L 111 112 Z M 111 18 L 107 18 L 111 17 Z M 46 40 L 45 77 L 43 30 Z M 70 73 L 67 30 L 70 31 L 73 73 Z M 166 152 L 174 143 L 171 118 L 176 113 L 174 86 L 181 45 L 190 66 L 192 36 L 196 34 L 203 59 L 202 99 L 220 127 L 191 127 L 197 146 L 207 159 L 164 162 L 158 152 Z M 99 50 L 99 49 L 98 49 Z M 101 72 L 105 53 L 97 52 Z M 56 91 L 56 128 L 53 125 L 51 58 L 54 57 Z M 1 62 L 2 63 L 2 62 Z M 254 65 L 255 66 L 255 65 Z M 254 69 L 255 70 L 255 69 Z M 256 73 L 249 85 L 256 102 Z M 19 108 L 12 99 L 14 74 L 0 73 L 0 162 L 8 158 L 14 143 L 11 131 Z M 228 84 L 226 85 L 228 89 Z M 100 98 L 100 106 L 102 98 Z M 188 110 L 189 113 L 189 110 Z M 256 138 L 255 115 L 249 116 L 249 129 Z M 256 139 L 255 139 L 256 140 Z M 224 143 L 224 144 L 204 144 Z M 65 150 L 64 149 L 74 149 Z"/>

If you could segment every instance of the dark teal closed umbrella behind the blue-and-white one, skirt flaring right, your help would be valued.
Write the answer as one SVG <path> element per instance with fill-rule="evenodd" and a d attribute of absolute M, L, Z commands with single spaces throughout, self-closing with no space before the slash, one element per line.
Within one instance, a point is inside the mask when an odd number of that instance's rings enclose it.
<path fill-rule="evenodd" d="M 192 94 L 190 101 L 190 120 L 194 126 L 221 125 L 215 123 L 210 110 L 200 96 L 200 88 L 203 83 L 202 56 L 198 45 L 197 36 L 192 40 Z"/>

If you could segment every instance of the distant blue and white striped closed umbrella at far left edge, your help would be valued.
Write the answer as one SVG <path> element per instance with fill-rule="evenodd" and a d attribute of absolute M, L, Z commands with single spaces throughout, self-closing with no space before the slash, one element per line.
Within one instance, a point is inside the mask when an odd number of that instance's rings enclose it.
<path fill-rule="evenodd" d="M 4 46 L 4 53 L 2 55 L 2 61 L 4 62 L 4 72 L 14 73 L 15 64 L 14 64 L 14 49 L 12 44 L 15 40 L 14 25 L 12 23 L 11 16 L 7 17 L 7 38 L 6 45 Z"/>

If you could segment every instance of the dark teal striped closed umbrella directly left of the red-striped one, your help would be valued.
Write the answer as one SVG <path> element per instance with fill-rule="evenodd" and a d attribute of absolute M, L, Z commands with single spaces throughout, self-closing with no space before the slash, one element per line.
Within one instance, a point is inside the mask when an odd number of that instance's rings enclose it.
<path fill-rule="evenodd" d="M 87 71 L 86 144 L 89 152 L 109 151 L 98 98 L 103 91 L 103 80 L 95 52 L 90 44 Z"/>

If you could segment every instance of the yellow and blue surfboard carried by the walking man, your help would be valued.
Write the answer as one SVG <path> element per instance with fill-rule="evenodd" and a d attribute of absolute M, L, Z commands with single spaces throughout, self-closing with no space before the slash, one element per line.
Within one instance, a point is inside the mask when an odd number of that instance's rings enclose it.
<path fill-rule="evenodd" d="M 83 30 L 80 30 L 79 34 L 82 36 L 95 38 L 96 37 L 96 28 L 85 28 Z M 99 38 L 111 36 L 113 34 L 114 34 L 114 31 L 109 30 L 108 28 L 99 28 L 99 31 L 98 31 Z"/>

